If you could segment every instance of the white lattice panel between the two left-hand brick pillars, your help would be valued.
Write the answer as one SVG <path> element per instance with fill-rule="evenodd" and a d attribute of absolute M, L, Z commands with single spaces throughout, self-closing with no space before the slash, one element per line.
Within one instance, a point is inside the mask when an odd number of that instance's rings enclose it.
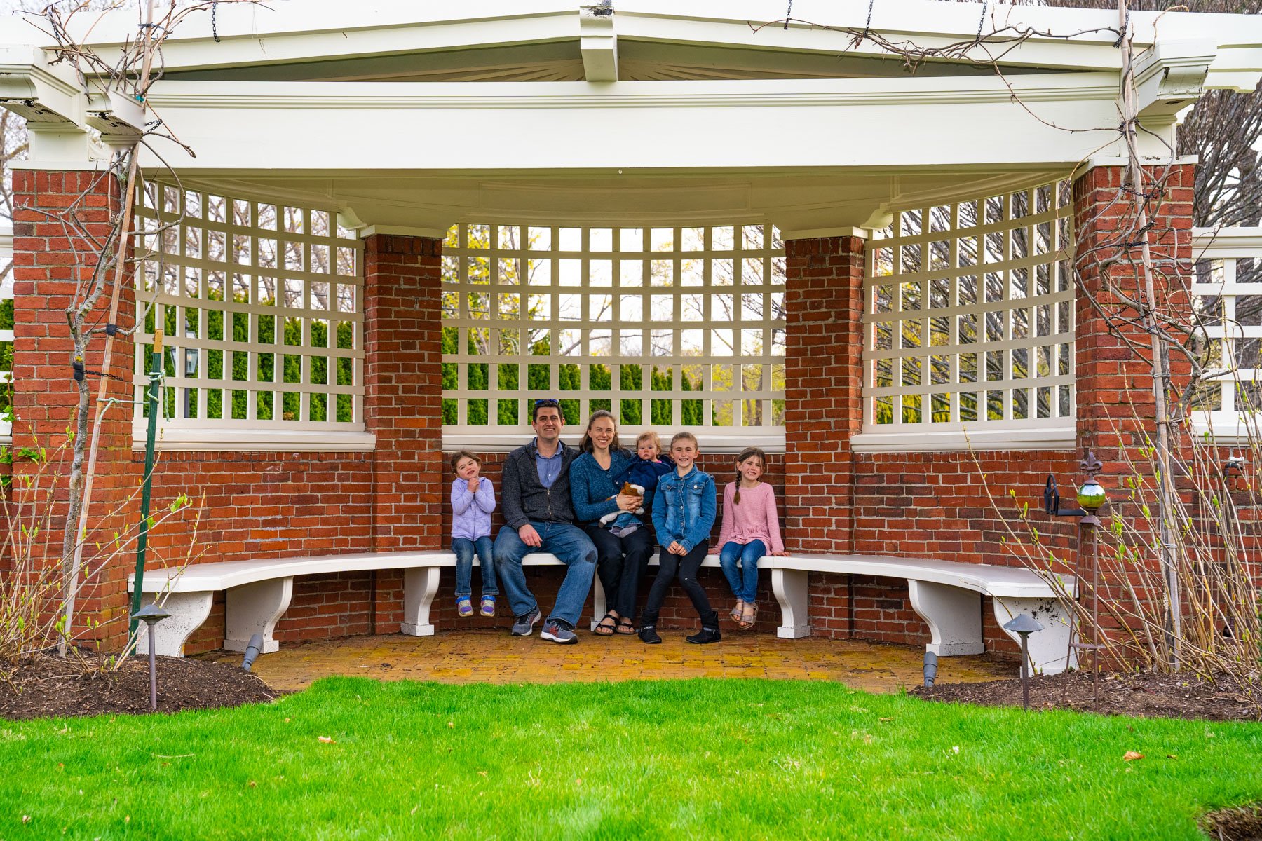
<path fill-rule="evenodd" d="M 155 327 L 165 330 L 168 440 L 363 430 L 362 243 L 333 213 L 150 183 L 136 229 L 141 438 Z"/>

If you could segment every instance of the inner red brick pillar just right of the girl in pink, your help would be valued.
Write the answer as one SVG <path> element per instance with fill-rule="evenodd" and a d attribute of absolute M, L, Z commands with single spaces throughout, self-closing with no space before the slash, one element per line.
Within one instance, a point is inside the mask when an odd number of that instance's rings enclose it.
<path fill-rule="evenodd" d="M 863 425 L 863 240 L 785 242 L 787 548 L 854 548 L 851 436 Z"/>

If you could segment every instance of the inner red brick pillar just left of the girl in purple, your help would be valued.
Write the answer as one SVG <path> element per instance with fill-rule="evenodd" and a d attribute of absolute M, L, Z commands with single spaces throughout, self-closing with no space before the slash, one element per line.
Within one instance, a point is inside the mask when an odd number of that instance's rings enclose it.
<path fill-rule="evenodd" d="M 376 436 L 372 550 L 435 550 L 442 535 L 442 240 L 365 240 L 365 424 Z M 376 633 L 399 630 L 403 575 L 380 572 Z"/>

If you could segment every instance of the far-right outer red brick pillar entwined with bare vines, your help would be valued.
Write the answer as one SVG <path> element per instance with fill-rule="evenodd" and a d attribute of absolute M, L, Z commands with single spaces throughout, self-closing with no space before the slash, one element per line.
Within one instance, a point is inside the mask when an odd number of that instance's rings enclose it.
<path fill-rule="evenodd" d="M 1141 250 L 1135 243 L 1142 236 L 1147 236 L 1151 247 L 1159 309 L 1179 313 L 1190 306 L 1188 274 L 1193 265 L 1194 166 L 1179 164 L 1170 166 L 1169 173 L 1166 166 L 1150 170 L 1153 178 L 1162 174 L 1166 174 L 1165 190 L 1148 200 L 1152 228 L 1146 235 L 1138 233 L 1136 197 L 1123 189 L 1123 168 L 1098 166 L 1074 183 L 1079 277 L 1075 304 L 1078 443 L 1080 451 L 1093 449 L 1104 465 L 1099 478 L 1111 501 L 1106 514 L 1121 514 L 1131 523 L 1142 523 L 1145 517 L 1137 502 L 1127 501 L 1129 480 L 1138 478 L 1148 485 L 1143 498 L 1153 513 L 1156 509 L 1153 472 L 1143 454 L 1147 441 L 1155 440 L 1156 401 L 1150 338 L 1138 327 L 1126 323 L 1124 319 L 1137 320 L 1136 313 L 1122 304 L 1113 290 L 1119 289 L 1136 299 L 1141 296 Z M 1174 378 L 1167 406 L 1174 411 L 1172 397 L 1186 386 L 1190 369 L 1177 352 L 1170 354 L 1170 362 Z M 1181 426 L 1171 438 L 1175 463 L 1186 461 L 1184 448 L 1190 445 L 1190 430 Z M 1152 537 L 1151 543 L 1155 543 L 1157 536 Z M 1159 593 L 1145 586 L 1138 574 L 1141 565 L 1150 570 L 1150 580 L 1157 574 L 1160 560 L 1156 551 L 1141 551 L 1137 559 L 1127 561 L 1123 571 L 1111 574 L 1117 571 L 1117 564 L 1108 560 L 1111 548 L 1108 545 L 1100 547 L 1104 556 L 1100 565 L 1102 598 L 1117 599 L 1129 609 L 1133 590 L 1140 599 L 1148 601 L 1151 615 L 1160 617 Z M 1085 585 L 1090 576 L 1090 559 L 1078 560 L 1076 572 Z M 1131 588 L 1119 580 L 1122 575 L 1131 575 Z M 1090 606 L 1089 595 L 1084 606 Z M 1100 624 L 1106 633 L 1111 633 L 1109 628 L 1116 623 L 1103 608 L 1100 615 Z M 1124 643 L 1132 637 L 1118 630 L 1116 638 Z"/>

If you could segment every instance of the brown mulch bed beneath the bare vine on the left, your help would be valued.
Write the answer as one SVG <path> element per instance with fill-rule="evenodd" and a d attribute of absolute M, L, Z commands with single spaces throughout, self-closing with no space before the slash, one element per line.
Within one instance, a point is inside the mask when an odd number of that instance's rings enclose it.
<path fill-rule="evenodd" d="M 96 654 L 83 653 L 83 659 L 87 668 L 74 657 L 45 656 L 19 664 L 10 682 L 0 681 L 0 717 L 150 711 L 148 657 L 129 658 L 117 671 L 101 671 Z M 278 695 L 227 663 L 159 657 L 156 666 L 159 712 L 257 704 Z"/>

